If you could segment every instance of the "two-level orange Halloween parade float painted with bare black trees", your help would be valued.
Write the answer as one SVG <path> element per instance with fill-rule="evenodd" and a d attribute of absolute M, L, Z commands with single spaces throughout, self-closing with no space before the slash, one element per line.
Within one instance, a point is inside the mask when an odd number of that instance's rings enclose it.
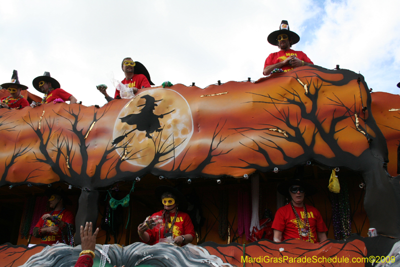
<path fill-rule="evenodd" d="M 1 225 L 9 229 L 0 266 L 74 265 L 80 246 L 30 236 L 48 187 L 68 192 L 76 225 L 101 227 L 97 265 L 396 265 L 399 110 L 398 95 L 371 93 L 362 75 L 317 66 L 205 89 L 145 88 L 102 107 L 0 109 Z M 328 190 L 332 175 L 338 193 Z M 306 202 L 321 212 L 328 240 L 269 240 L 285 201 L 276 186 L 293 177 L 317 186 Z M 160 208 L 158 185 L 186 194 L 192 244 L 139 242 L 137 225 Z M 109 209 L 109 197 L 127 195 L 128 207 Z M 100 263 L 103 244 L 109 262 Z"/>

